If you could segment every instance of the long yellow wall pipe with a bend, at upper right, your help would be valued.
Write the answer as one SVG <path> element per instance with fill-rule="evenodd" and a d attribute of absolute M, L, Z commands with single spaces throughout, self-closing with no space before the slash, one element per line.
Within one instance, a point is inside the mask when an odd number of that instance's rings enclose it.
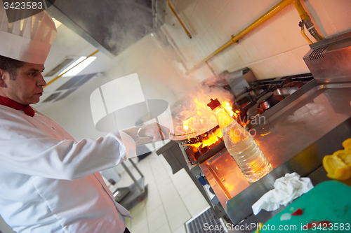
<path fill-rule="evenodd" d="M 314 26 L 312 24 L 310 16 L 308 16 L 307 12 L 303 8 L 303 6 L 301 5 L 299 0 L 282 0 L 279 3 L 277 3 L 277 5 L 273 6 L 273 8 L 271 8 L 266 13 L 264 13 L 261 17 L 259 17 L 257 20 L 255 20 L 255 22 L 250 24 L 249 27 L 246 27 L 244 30 L 240 31 L 239 34 L 237 34 L 236 36 L 232 35 L 232 38 L 230 39 L 230 41 L 227 41 L 227 43 L 220 46 L 220 48 L 218 48 L 216 51 L 212 52 L 211 55 L 208 55 L 208 57 L 206 57 L 205 59 L 202 59 L 201 62 L 199 62 L 192 69 L 187 71 L 187 73 L 190 73 L 190 72 L 194 71 L 195 69 L 198 69 L 199 66 L 201 66 L 202 64 L 207 62 L 208 59 L 211 59 L 212 57 L 218 55 L 218 53 L 222 52 L 223 50 L 228 48 L 233 43 L 238 43 L 240 38 L 246 36 L 246 34 L 253 31 L 253 29 L 256 29 L 256 27 L 260 26 L 260 24 L 263 24 L 263 22 L 266 22 L 268 19 L 270 19 L 270 17 L 272 17 L 273 15 L 276 15 L 277 13 L 279 13 L 279 11 L 286 8 L 286 6 L 289 6 L 291 3 L 293 3 L 296 10 L 298 10 L 298 13 L 300 15 L 301 20 L 303 20 L 303 22 L 305 24 L 307 22 L 308 26 L 306 24 L 306 27 L 307 27 L 307 30 L 310 31 L 310 34 L 314 38 L 316 38 L 317 41 L 323 40 L 324 39 L 323 36 L 318 34 L 317 30 L 314 28 Z"/>

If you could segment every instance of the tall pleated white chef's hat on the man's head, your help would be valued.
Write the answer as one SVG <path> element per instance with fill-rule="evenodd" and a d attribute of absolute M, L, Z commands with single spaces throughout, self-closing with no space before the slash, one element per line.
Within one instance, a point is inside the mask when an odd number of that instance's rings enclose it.
<path fill-rule="evenodd" d="M 0 55 L 22 62 L 44 64 L 58 31 L 50 15 L 37 15 L 12 23 L 0 6 Z"/>

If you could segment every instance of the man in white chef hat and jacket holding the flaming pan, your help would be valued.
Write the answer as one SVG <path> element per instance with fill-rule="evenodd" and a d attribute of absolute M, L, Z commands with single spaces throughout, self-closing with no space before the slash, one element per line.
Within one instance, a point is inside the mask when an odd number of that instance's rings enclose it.
<path fill-rule="evenodd" d="M 99 171 L 135 157 L 135 144 L 167 139 L 169 130 L 152 124 L 75 141 L 30 106 L 46 85 L 41 72 L 57 33 L 53 20 L 41 12 L 9 24 L 1 10 L 1 217 L 18 233 L 129 232 L 124 217 L 131 214 Z"/>

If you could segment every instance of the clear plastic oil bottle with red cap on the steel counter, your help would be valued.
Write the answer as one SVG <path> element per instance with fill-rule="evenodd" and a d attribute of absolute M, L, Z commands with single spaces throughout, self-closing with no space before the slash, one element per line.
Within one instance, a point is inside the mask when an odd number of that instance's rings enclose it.
<path fill-rule="evenodd" d="M 218 99 L 211 99 L 207 106 L 216 115 L 218 125 L 223 133 L 225 147 L 234 157 L 246 181 L 253 183 L 270 173 L 273 169 L 272 165 L 263 155 L 253 136 L 220 106 Z"/>

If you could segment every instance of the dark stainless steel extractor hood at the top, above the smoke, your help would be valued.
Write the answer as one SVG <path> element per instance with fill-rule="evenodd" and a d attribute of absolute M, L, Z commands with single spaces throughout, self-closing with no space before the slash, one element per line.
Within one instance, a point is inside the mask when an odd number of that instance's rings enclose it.
<path fill-rule="evenodd" d="M 164 22 L 162 0 L 48 0 L 48 13 L 107 55 L 118 55 Z"/>

